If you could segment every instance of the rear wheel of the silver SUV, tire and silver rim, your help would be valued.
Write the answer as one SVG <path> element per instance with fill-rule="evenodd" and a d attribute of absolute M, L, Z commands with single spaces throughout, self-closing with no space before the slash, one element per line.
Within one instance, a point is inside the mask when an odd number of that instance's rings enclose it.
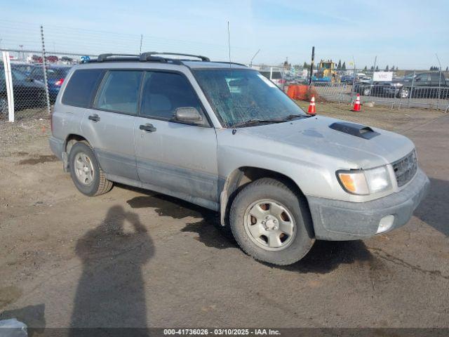
<path fill-rule="evenodd" d="M 72 146 L 69 153 L 69 169 L 76 188 L 89 197 L 105 194 L 112 188 L 112 181 L 105 178 L 105 172 L 98 164 L 91 145 L 86 141 Z"/>

